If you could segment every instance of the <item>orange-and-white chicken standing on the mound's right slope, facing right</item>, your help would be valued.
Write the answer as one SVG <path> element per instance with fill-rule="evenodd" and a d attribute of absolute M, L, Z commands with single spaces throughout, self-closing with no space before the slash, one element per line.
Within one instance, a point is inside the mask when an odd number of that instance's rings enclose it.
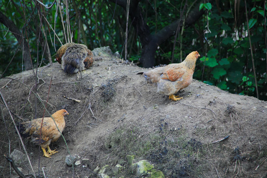
<path fill-rule="evenodd" d="M 199 56 L 197 51 L 193 51 L 181 63 L 169 64 L 138 74 L 143 74 L 146 81 L 156 83 L 158 92 L 169 95 L 169 99 L 176 101 L 182 97 L 174 94 L 191 84 Z"/>

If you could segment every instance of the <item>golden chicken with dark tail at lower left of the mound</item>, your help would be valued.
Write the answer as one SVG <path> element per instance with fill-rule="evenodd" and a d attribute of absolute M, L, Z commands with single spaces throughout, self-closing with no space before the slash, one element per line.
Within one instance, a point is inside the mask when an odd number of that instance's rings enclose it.
<path fill-rule="evenodd" d="M 52 117 L 54 118 L 55 122 L 51 117 L 45 117 L 43 120 L 42 132 L 42 118 L 20 123 L 18 129 L 23 137 L 31 137 L 34 143 L 41 143 L 42 150 L 44 151 L 44 156 L 47 158 L 51 158 L 50 156 L 57 153 L 58 151 L 51 150 L 49 144 L 51 142 L 56 141 L 60 137 L 60 133 L 62 133 L 65 128 L 64 116 L 68 114 L 69 113 L 65 109 L 56 111 L 54 114 L 52 114 Z M 47 152 L 45 151 L 45 148 L 47 148 Z"/>

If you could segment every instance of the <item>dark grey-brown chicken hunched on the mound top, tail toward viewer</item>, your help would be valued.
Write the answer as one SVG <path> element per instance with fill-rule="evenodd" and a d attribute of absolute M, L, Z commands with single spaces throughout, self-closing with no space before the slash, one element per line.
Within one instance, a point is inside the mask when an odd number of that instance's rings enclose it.
<path fill-rule="evenodd" d="M 56 52 L 56 60 L 68 74 L 88 69 L 93 63 L 93 53 L 86 45 L 67 43 Z"/>

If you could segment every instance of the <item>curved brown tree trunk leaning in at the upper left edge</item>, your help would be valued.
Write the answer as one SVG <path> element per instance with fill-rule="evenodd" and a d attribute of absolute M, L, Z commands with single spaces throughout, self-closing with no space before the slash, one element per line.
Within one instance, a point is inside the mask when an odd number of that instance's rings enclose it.
<path fill-rule="evenodd" d="M 4 26 L 6 26 L 9 29 L 9 31 L 12 32 L 13 35 L 16 37 L 18 44 L 20 45 L 20 48 L 22 50 L 22 56 L 23 56 L 23 60 L 24 60 L 25 70 L 31 69 L 33 67 L 33 65 L 32 65 L 32 58 L 31 58 L 29 45 L 28 45 L 26 39 L 24 39 L 20 30 L 2 12 L 0 12 L 0 23 L 2 23 Z"/>

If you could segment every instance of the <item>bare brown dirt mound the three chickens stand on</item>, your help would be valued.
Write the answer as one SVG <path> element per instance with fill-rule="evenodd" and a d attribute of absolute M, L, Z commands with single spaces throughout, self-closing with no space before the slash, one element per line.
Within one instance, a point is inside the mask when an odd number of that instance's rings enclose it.
<path fill-rule="evenodd" d="M 0 91 L 15 122 L 42 117 L 49 88 L 48 112 L 64 108 L 70 113 L 65 118 L 64 138 L 50 145 L 59 151 L 52 158 L 42 157 L 39 147 L 24 139 L 35 174 L 40 163 L 40 174 L 47 178 L 73 174 L 93 178 L 98 174 L 95 168 L 109 165 L 108 176 L 134 178 L 136 173 L 127 161 L 127 155 L 132 155 L 135 162 L 148 160 L 166 178 L 267 177 L 267 102 L 196 80 L 178 93 L 183 99 L 174 102 L 136 75 L 148 69 L 104 49 L 97 49 L 95 54 L 101 56 L 79 75 L 66 75 L 53 63 L 38 69 L 38 79 L 26 71 L 10 76 L 15 80 L 0 80 Z M 14 149 L 24 152 L 2 102 L 0 112 L 0 155 Z M 67 166 L 69 154 L 81 164 Z M 0 177 L 17 177 L 5 158 L 1 159 Z M 117 164 L 122 170 L 112 171 Z M 29 165 L 18 167 L 25 175 L 32 174 Z"/>

